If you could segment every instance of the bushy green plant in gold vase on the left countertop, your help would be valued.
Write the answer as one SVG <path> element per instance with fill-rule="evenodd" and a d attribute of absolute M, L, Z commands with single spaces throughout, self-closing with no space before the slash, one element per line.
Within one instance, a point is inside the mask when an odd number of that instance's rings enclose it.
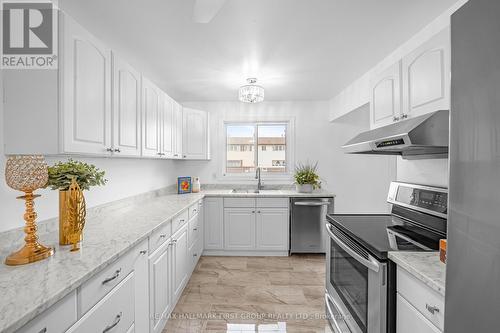
<path fill-rule="evenodd" d="M 79 223 L 82 225 L 85 223 L 86 207 L 83 191 L 89 190 L 92 186 L 102 186 L 106 184 L 107 179 L 104 178 L 105 172 L 95 165 L 73 159 L 57 162 L 48 170 L 47 187 L 59 190 L 59 244 L 69 245 L 72 243 L 71 235 L 68 233 L 71 222 L 79 219 Z"/>

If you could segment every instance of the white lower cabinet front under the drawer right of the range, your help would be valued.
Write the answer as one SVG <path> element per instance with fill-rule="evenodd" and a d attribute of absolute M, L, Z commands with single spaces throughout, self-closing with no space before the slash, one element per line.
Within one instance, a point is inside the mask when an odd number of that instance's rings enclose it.
<path fill-rule="evenodd" d="M 441 331 L 407 300 L 397 294 L 396 332 L 397 333 L 440 333 Z"/>

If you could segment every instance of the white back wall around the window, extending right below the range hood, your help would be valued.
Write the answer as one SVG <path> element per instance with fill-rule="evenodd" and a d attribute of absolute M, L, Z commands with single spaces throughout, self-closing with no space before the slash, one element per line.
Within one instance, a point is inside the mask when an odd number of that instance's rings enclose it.
<path fill-rule="evenodd" d="M 340 147 L 369 127 L 367 108 L 347 115 L 336 123 L 328 122 L 327 101 L 264 102 L 188 102 L 185 106 L 210 113 L 212 160 L 184 162 L 179 176 L 199 176 L 202 183 L 224 183 L 217 175 L 225 147 L 219 142 L 221 120 L 250 118 L 287 120 L 295 123 L 295 162 L 318 161 L 324 188 L 334 192 L 336 212 L 386 212 L 389 182 L 395 177 L 395 159 L 380 156 L 344 154 Z M 241 183 L 239 181 L 238 183 Z M 254 180 L 248 183 L 255 183 Z M 270 182 L 265 182 L 270 183 Z M 291 180 L 279 183 L 292 183 Z"/>

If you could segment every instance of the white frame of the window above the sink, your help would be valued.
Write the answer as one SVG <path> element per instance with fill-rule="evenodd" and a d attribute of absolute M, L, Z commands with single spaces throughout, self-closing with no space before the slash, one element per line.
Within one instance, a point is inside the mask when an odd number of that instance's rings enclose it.
<path fill-rule="evenodd" d="M 220 123 L 220 140 L 219 146 L 223 146 L 223 154 L 221 154 L 222 158 L 219 159 L 219 172 L 218 178 L 219 180 L 231 180 L 231 181 L 249 181 L 255 180 L 255 175 L 252 172 L 249 173 L 227 173 L 226 172 L 226 161 L 227 161 L 227 126 L 228 125 L 242 125 L 255 126 L 254 132 L 254 155 L 255 161 L 258 163 L 258 144 L 257 144 L 257 135 L 258 135 L 258 125 L 286 125 L 286 140 L 285 140 L 285 172 L 276 173 L 276 172 L 262 172 L 262 179 L 269 181 L 290 181 L 292 179 L 293 174 L 293 166 L 295 165 L 295 118 L 267 118 L 262 116 L 251 116 L 249 115 L 246 118 L 238 118 L 238 119 L 227 119 L 221 120 Z"/>

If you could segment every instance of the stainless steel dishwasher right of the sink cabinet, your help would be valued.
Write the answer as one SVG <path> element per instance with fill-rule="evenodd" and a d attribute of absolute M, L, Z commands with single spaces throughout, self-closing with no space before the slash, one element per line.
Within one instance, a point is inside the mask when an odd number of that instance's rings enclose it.
<path fill-rule="evenodd" d="M 326 214 L 333 213 L 333 198 L 292 198 L 290 254 L 325 253 Z"/>

